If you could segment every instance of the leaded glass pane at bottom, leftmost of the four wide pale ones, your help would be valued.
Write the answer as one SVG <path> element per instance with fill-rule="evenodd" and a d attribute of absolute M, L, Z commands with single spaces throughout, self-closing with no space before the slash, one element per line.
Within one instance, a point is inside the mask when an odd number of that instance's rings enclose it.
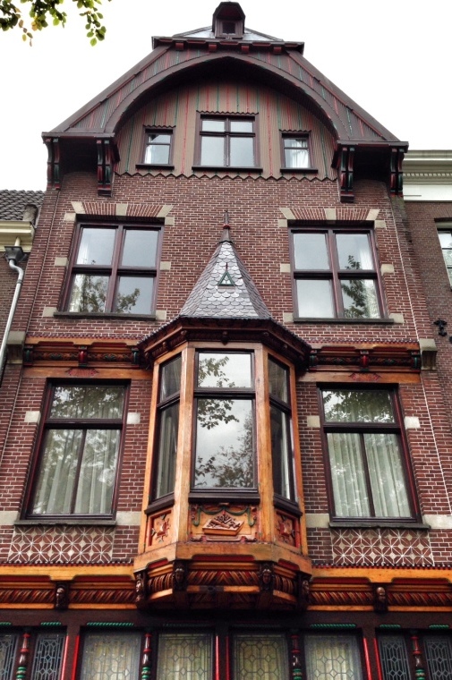
<path fill-rule="evenodd" d="M 81 680 L 138 680 L 140 647 L 140 633 L 87 635 Z"/>

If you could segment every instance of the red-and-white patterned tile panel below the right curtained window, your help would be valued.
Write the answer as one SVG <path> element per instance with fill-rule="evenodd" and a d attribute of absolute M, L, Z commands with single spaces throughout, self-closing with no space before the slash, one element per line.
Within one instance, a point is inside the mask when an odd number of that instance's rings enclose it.
<path fill-rule="evenodd" d="M 335 565 L 434 565 L 429 535 L 411 529 L 331 531 Z"/>

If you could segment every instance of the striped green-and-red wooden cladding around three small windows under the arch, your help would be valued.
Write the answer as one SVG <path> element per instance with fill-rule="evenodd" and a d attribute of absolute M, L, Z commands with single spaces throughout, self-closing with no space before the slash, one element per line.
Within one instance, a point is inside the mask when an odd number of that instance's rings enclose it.
<path fill-rule="evenodd" d="M 321 123 L 317 115 L 301 106 L 294 99 L 261 85 L 247 83 L 236 79 L 218 79 L 193 82 L 180 86 L 168 93 L 151 98 L 142 106 L 118 132 L 116 140 L 120 149 L 121 161 L 116 166 L 117 174 L 134 174 L 137 164 L 142 164 L 143 136 L 149 128 L 173 131 L 173 164 L 174 170 L 164 168 L 138 169 L 140 174 L 158 173 L 184 174 L 193 173 L 192 166 L 196 162 L 195 149 L 197 115 L 233 114 L 256 116 L 257 144 L 260 151 L 260 167 L 252 176 L 279 177 L 283 164 L 281 154 L 281 131 L 308 132 L 311 144 L 311 166 L 318 172 L 310 172 L 309 177 L 319 179 L 335 179 L 336 171 L 331 167 L 335 140 L 327 126 Z M 201 170 L 194 174 L 211 176 L 213 174 L 239 174 L 231 168 L 225 171 Z M 286 177 L 294 176 L 287 171 Z M 296 176 L 303 176 L 298 171 Z"/>

